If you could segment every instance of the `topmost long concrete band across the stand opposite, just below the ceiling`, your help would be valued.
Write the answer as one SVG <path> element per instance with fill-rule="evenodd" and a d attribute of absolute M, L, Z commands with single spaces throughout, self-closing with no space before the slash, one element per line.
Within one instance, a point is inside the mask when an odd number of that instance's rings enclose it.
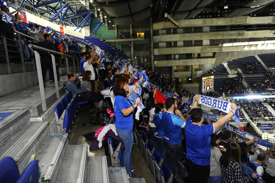
<path fill-rule="evenodd" d="M 179 27 L 200 27 L 200 26 L 215 26 L 215 25 L 240 25 L 240 24 L 273 24 L 274 16 L 239 16 L 234 18 L 205 18 L 205 19 L 189 19 L 177 21 Z M 165 20 L 153 24 L 153 30 L 176 28 L 170 21 Z"/>

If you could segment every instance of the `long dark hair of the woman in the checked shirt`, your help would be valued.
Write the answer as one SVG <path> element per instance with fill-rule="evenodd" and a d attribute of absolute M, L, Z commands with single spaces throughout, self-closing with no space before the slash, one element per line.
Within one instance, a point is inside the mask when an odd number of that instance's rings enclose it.
<path fill-rule="evenodd" d="M 236 143 L 230 143 L 228 145 L 226 152 L 220 158 L 220 163 L 224 167 L 227 167 L 231 160 L 236 161 L 240 166 L 242 166 L 240 159 L 240 146 Z"/>

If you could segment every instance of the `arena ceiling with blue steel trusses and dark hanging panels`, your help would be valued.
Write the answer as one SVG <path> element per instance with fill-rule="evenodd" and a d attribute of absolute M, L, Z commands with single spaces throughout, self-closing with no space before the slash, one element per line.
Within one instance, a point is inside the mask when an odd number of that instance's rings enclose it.
<path fill-rule="evenodd" d="M 6 0 L 4 0 L 6 1 Z M 274 16 L 275 0 L 8 0 L 56 24 L 81 28 L 94 18 L 108 26 L 129 25 L 164 13 L 174 20 L 237 16 Z M 98 23 L 96 22 L 96 23 Z"/>

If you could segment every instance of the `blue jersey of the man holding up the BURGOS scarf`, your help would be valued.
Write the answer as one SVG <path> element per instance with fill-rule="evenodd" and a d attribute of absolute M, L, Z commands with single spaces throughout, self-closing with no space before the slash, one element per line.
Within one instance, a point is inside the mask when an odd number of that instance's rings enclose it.
<path fill-rule="evenodd" d="M 214 134 L 214 124 L 195 125 L 192 124 L 191 117 L 186 121 L 186 158 L 194 163 L 207 166 L 211 156 L 211 134 Z"/>

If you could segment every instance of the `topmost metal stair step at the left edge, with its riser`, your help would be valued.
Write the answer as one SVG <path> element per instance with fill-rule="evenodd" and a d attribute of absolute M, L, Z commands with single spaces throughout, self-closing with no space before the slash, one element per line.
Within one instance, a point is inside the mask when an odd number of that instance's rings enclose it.
<path fill-rule="evenodd" d="M 20 109 L 2 119 L 0 121 L 0 148 L 30 123 L 30 118 L 30 109 Z"/>

